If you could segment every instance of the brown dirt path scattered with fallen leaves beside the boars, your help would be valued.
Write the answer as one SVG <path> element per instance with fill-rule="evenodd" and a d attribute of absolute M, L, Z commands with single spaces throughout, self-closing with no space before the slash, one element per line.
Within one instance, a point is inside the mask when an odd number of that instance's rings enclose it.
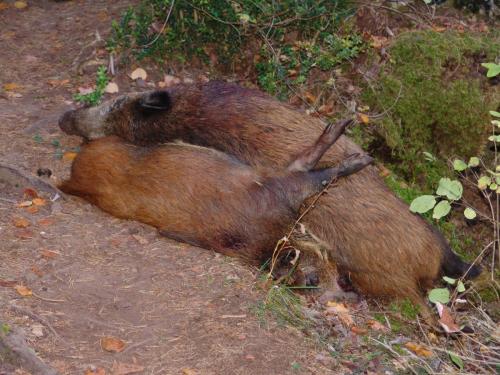
<path fill-rule="evenodd" d="M 29 3 L 0 10 L 0 162 L 32 174 L 49 168 L 61 179 L 70 166 L 61 152 L 79 143 L 56 120 L 82 84 L 71 66 L 96 29 L 105 36 L 111 19 L 134 2 Z M 21 201 L 23 188 L 0 186 L 0 280 L 35 295 L 0 286 L 0 321 L 25 329 L 61 373 L 330 373 L 303 335 L 258 321 L 252 309 L 263 294 L 250 268 L 79 199 L 37 213 L 17 208 L 8 199 Z M 21 217 L 28 227 L 15 227 Z M 104 351 L 105 336 L 123 340 L 125 349 Z M 0 374 L 9 371 L 0 363 Z"/>

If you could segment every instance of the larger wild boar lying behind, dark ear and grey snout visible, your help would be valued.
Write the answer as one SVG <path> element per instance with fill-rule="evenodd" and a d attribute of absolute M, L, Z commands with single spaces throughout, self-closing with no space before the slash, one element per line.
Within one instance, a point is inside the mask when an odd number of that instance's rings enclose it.
<path fill-rule="evenodd" d="M 115 134 L 139 145 L 182 140 L 213 147 L 254 167 L 284 168 L 316 139 L 320 120 L 258 90 L 224 83 L 178 85 L 120 96 L 98 107 L 65 113 L 60 127 L 94 139 Z M 362 153 L 342 136 L 324 157 L 338 163 Z M 375 167 L 343 179 L 303 220 L 331 258 L 362 292 L 409 297 L 444 273 L 473 277 L 443 236 L 385 186 Z"/>

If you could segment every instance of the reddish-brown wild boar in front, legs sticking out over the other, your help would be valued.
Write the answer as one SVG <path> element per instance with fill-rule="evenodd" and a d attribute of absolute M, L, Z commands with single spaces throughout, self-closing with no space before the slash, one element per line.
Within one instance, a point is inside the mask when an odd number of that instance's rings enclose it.
<path fill-rule="evenodd" d="M 327 127 L 286 170 L 272 175 L 214 149 L 138 147 L 109 136 L 83 146 L 60 188 L 167 237 L 261 264 L 307 197 L 371 162 L 357 155 L 338 167 L 311 170 L 349 122 Z"/>

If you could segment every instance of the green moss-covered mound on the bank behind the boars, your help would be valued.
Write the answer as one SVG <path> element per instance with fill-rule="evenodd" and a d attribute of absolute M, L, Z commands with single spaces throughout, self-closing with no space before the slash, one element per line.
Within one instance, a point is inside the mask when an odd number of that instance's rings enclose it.
<path fill-rule="evenodd" d="M 498 51 L 498 31 L 398 36 L 377 81 L 363 94 L 372 110 L 386 113 L 376 124 L 372 143 L 384 143 L 378 149 L 390 155 L 378 156 L 425 188 L 446 174 L 446 159 L 480 154 L 491 131 L 488 111 L 500 101 L 500 89 L 488 82 L 481 63 L 494 61 Z M 438 161 L 429 163 L 423 151 Z"/>

